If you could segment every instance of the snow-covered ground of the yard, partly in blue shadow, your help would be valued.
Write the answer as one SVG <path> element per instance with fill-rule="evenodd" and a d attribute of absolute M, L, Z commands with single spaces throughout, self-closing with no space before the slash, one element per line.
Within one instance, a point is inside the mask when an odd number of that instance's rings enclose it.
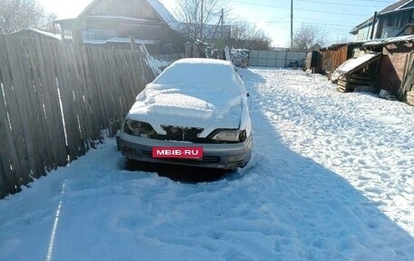
<path fill-rule="evenodd" d="M 108 140 L 0 201 L 0 259 L 414 260 L 414 108 L 300 71 L 241 74 L 246 168 L 176 182 L 123 169 Z"/>

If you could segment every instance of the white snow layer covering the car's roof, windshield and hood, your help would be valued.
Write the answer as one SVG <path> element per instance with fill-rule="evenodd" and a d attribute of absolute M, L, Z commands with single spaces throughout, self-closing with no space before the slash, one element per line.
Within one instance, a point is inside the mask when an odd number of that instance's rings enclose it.
<path fill-rule="evenodd" d="M 226 117 L 227 124 L 237 127 L 243 90 L 232 63 L 182 59 L 146 86 L 137 96 L 130 115 L 156 117 L 163 123 L 177 125 L 204 125 L 201 121 Z"/>

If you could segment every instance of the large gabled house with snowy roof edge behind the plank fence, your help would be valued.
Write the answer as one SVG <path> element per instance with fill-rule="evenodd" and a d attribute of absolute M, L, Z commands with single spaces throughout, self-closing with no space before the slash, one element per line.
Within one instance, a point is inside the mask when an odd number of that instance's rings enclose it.
<path fill-rule="evenodd" d="M 94 0 L 73 19 L 54 21 L 64 41 L 131 49 L 151 54 L 182 53 L 180 23 L 157 0 Z"/>

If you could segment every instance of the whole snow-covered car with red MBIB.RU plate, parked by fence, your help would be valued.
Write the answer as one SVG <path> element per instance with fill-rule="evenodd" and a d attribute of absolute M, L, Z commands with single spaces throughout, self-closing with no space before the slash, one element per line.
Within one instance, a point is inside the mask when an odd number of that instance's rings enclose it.
<path fill-rule="evenodd" d="M 231 170 L 245 166 L 252 147 L 248 98 L 232 63 L 176 61 L 136 97 L 116 136 L 118 149 L 126 158 L 145 162 Z M 166 150 L 157 156 L 154 148 Z M 202 150 L 202 156 L 185 156 L 192 148 Z"/>

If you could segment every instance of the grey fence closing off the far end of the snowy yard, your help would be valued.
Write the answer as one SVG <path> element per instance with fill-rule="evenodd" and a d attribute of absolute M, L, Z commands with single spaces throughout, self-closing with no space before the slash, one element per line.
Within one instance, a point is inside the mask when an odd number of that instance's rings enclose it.
<path fill-rule="evenodd" d="M 296 62 L 301 65 L 306 55 L 306 52 L 251 50 L 249 53 L 249 65 L 284 68 Z"/>

